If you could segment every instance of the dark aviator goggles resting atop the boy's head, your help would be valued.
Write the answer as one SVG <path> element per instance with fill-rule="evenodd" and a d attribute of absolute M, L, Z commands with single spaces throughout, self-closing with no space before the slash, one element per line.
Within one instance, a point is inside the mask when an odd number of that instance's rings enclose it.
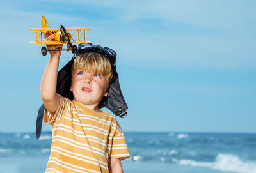
<path fill-rule="evenodd" d="M 110 63 L 116 69 L 116 52 L 109 47 L 101 47 L 100 45 L 93 45 L 92 43 L 79 44 L 77 54 L 74 55 L 73 59 L 81 54 L 85 54 L 87 52 L 99 52 L 105 57 L 108 57 Z"/>

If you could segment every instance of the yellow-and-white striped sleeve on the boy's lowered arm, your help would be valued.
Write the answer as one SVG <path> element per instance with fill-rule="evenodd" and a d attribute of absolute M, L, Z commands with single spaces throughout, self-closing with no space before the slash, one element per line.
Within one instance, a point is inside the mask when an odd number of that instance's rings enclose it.
<path fill-rule="evenodd" d="M 120 160 L 124 160 L 129 157 L 130 154 L 124 138 L 124 133 L 122 132 L 120 125 L 117 123 L 116 132 L 112 139 L 110 158 L 120 158 Z"/>

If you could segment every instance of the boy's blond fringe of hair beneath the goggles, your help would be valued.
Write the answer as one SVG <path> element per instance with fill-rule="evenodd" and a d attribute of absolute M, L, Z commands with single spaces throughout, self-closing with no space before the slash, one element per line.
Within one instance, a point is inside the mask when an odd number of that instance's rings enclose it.
<path fill-rule="evenodd" d="M 92 71 L 98 75 L 106 75 L 108 87 L 113 77 L 113 71 L 109 59 L 98 52 L 88 52 L 76 57 L 72 65 L 72 74 L 77 69 Z"/>

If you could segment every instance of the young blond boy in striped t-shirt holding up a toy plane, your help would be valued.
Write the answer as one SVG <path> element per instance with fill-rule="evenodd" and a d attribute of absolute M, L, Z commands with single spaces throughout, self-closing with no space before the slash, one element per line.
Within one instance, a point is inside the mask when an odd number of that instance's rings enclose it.
<path fill-rule="evenodd" d="M 62 46 L 47 48 L 60 50 Z M 58 75 L 61 51 L 50 52 L 40 88 L 44 122 L 52 125 L 51 155 L 45 172 L 123 172 L 120 160 L 130 156 L 115 117 L 99 109 L 112 92 L 112 78 L 118 82 L 115 61 L 108 54 L 111 49 L 89 46 L 94 49 L 76 56 L 64 67 L 72 65 L 71 84 L 64 87 L 72 92 L 74 100 L 56 93 L 63 87 Z"/>

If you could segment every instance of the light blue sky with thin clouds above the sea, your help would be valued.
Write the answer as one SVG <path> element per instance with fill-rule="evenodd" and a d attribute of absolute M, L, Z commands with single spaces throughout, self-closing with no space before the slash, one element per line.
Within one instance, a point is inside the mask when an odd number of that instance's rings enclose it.
<path fill-rule="evenodd" d="M 0 132 L 34 132 L 49 59 L 30 28 L 87 27 L 117 53 L 124 132 L 256 132 L 255 1 L 3 1 Z M 72 57 L 62 52 L 60 68 Z M 43 131 L 51 130 L 44 124 Z"/>

